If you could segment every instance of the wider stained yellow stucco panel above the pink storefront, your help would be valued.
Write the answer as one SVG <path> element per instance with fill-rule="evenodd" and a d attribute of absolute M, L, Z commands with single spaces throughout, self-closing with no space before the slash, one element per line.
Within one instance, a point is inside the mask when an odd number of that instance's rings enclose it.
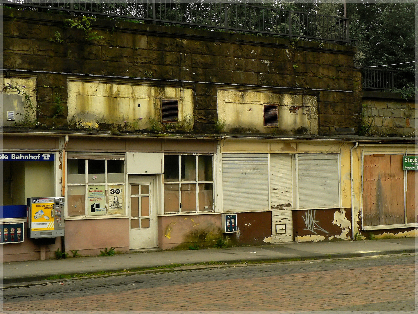
<path fill-rule="evenodd" d="M 160 117 L 161 99 L 177 99 L 179 121 L 193 126 L 193 89 L 68 80 L 68 121 L 84 127 L 99 123 L 147 129 Z M 140 106 L 138 106 L 140 104 Z"/>

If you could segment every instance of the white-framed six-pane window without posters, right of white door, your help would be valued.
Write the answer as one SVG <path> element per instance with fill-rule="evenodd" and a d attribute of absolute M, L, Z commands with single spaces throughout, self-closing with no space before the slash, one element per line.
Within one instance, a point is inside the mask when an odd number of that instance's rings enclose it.
<path fill-rule="evenodd" d="M 213 211 L 212 165 L 212 155 L 164 155 L 164 212 Z"/>

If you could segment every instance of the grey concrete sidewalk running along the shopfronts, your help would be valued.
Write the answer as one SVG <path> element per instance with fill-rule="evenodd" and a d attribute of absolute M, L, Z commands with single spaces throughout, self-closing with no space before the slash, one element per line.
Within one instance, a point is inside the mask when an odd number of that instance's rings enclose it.
<path fill-rule="evenodd" d="M 3 283 L 39 281 L 53 275 L 97 273 L 100 271 L 140 270 L 170 264 L 243 261 L 286 261 L 360 257 L 415 252 L 415 238 L 285 243 L 226 249 L 158 251 L 115 256 L 91 256 L 64 260 L 32 260 L 3 263 Z"/>

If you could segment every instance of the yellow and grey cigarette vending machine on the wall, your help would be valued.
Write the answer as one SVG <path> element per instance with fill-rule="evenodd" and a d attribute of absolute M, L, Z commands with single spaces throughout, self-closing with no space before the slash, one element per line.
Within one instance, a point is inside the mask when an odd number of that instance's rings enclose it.
<path fill-rule="evenodd" d="M 28 198 L 31 238 L 64 237 L 64 197 Z"/>

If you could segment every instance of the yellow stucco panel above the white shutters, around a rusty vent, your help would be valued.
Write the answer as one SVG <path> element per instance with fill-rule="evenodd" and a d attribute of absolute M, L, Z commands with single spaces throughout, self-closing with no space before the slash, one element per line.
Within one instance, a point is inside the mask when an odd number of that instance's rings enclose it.
<path fill-rule="evenodd" d="M 225 131 L 236 127 L 260 133 L 303 132 L 318 134 L 316 96 L 218 90 L 218 120 L 225 122 Z M 263 105 L 279 106 L 278 128 L 264 127 Z"/>

